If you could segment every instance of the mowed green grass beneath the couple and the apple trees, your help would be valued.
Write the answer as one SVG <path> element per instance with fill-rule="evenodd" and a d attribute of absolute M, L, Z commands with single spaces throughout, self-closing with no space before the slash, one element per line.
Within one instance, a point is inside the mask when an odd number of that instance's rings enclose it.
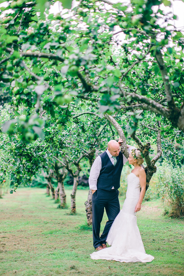
<path fill-rule="evenodd" d="M 66 190 L 68 205 L 70 193 Z M 19 188 L 5 194 L 0 199 L 0 275 L 184 275 L 184 221 L 164 218 L 159 200 L 144 202 L 137 213 L 145 250 L 155 257 L 151 263 L 91 260 L 92 231 L 81 227 L 87 221 L 87 194 L 77 191 L 77 215 L 57 209 L 45 189 Z"/>

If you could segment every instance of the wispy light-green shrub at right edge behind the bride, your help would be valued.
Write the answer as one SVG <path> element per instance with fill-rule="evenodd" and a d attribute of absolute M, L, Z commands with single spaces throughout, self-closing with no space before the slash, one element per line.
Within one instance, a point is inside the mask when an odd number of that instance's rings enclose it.
<path fill-rule="evenodd" d="M 160 171 L 158 189 L 166 203 L 165 214 L 169 217 L 184 216 L 184 166 L 164 165 Z"/>

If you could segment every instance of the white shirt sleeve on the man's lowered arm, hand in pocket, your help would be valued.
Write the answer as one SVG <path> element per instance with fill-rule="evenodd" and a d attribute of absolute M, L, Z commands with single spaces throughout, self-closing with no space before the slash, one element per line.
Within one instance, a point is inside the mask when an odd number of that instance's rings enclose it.
<path fill-rule="evenodd" d="M 101 158 L 96 157 L 93 165 L 91 166 L 91 171 L 89 175 L 89 188 L 91 190 L 97 190 L 97 179 L 99 177 L 101 170 Z"/>

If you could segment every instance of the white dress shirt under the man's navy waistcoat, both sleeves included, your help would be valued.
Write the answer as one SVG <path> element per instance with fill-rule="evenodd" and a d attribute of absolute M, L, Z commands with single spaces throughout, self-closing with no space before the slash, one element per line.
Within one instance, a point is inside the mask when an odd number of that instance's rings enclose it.
<path fill-rule="evenodd" d="M 128 152 L 130 153 L 133 148 L 136 148 L 136 147 L 129 147 Z M 110 161 L 114 165 L 114 158 L 112 158 L 112 154 L 110 154 L 108 149 L 106 150 L 106 152 L 110 158 Z M 128 161 L 128 159 L 123 154 L 123 166 L 127 161 Z M 91 171 L 90 171 L 90 175 L 89 175 L 89 188 L 91 190 L 97 190 L 97 179 L 99 177 L 100 170 L 101 170 L 101 157 L 98 156 L 98 157 L 96 157 L 93 165 L 91 166 Z M 114 189 L 114 187 L 112 187 L 112 189 Z"/>

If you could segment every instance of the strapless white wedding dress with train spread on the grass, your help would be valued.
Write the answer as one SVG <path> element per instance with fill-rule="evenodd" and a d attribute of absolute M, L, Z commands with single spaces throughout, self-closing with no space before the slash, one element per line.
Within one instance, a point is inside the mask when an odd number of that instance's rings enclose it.
<path fill-rule="evenodd" d="M 111 247 L 91 254 L 92 259 L 114 260 L 119 262 L 151 262 L 154 257 L 145 253 L 135 207 L 140 196 L 139 177 L 134 173 L 128 175 L 126 199 L 109 231 L 107 242 Z"/>

